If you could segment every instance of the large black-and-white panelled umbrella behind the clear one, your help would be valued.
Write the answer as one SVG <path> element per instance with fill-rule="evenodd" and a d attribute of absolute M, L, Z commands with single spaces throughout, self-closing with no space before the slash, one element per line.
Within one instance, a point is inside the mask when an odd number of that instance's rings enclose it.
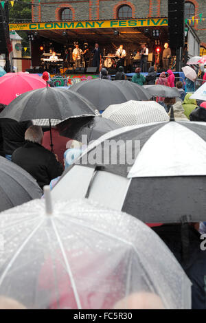
<path fill-rule="evenodd" d="M 52 197 L 87 197 L 146 223 L 181 223 L 185 216 L 205 221 L 205 140 L 201 122 L 117 129 L 89 146 L 62 175 Z"/>

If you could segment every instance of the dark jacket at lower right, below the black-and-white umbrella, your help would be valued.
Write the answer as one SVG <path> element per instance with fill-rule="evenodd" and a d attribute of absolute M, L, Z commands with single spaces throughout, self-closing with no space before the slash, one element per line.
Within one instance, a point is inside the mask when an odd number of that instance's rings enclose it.
<path fill-rule="evenodd" d="M 206 251 L 201 250 L 201 234 L 188 225 L 183 234 L 182 225 L 162 225 L 152 228 L 168 245 L 192 282 L 192 309 L 206 309 Z M 183 239 L 189 246 L 183 252 Z M 185 259 L 186 256 L 186 259 Z"/>

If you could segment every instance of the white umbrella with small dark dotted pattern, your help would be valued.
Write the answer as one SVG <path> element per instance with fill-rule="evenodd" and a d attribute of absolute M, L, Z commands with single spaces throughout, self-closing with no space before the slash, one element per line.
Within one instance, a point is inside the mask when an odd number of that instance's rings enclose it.
<path fill-rule="evenodd" d="M 169 121 L 168 113 L 155 101 L 128 101 L 108 107 L 102 117 L 122 126 Z"/>

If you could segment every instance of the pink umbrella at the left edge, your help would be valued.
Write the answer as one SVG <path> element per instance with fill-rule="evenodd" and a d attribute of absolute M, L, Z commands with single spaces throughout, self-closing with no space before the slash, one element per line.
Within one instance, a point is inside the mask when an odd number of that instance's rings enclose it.
<path fill-rule="evenodd" d="M 41 89 L 47 82 L 37 74 L 8 73 L 0 78 L 0 103 L 10 104 L 12 100 L 22 93 Z"/>

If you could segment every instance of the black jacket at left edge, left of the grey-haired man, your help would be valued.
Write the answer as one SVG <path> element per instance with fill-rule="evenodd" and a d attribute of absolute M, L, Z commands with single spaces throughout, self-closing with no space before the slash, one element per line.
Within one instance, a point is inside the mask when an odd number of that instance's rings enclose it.
<path fill-rule="evenodd" d="M 3 137 L 3 150 L 7 155 L 25 144 L 25 131 L 32 126 L 31 121 L 17 122 L 15 120 L 1 119 L 1 133 Z"/>

